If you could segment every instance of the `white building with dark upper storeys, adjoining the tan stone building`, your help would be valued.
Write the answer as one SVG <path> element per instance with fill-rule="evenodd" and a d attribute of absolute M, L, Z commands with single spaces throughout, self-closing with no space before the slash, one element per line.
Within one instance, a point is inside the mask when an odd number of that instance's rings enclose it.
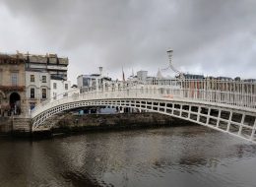
<path fill-rule="evenodd" d="M 51 97 L 52 80 L 67 80 L 69 60 L 60 58 L 56 54 L 23 55 L 26 58 L 27 105 L 32 109 L 36 104 Z M 65 89 L 65 85 L 63 88 Z M 62 91 L 63 89 L 58 93 Z"/>

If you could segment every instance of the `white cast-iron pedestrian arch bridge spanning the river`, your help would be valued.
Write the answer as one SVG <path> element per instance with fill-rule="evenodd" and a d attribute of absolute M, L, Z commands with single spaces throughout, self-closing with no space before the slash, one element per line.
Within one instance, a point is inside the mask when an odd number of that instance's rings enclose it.
<path fill-rule="evenodd" d="M 121 85 L 121 86 L 120 86 Z M 256 84 L 234 81 L 173 80 L 126 83 L 118 87 L 61 94 L 31 112 L 32 131 L 57 113 L 91 106 L 158 112 L 256 143 Z"/>

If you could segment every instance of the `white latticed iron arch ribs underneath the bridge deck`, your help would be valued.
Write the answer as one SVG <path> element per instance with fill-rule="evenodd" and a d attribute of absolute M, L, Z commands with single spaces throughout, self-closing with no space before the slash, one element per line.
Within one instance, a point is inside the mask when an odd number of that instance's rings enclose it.
<path fill-rule="evenodd" d="M 92 99 L 59 104 L 34 116 L 32 129 L 57 113 L 87 106 L 118 106 L 158 112 L 255 142 L 256 117 L 253 112 L 216 104 L 154 98 Z"/>

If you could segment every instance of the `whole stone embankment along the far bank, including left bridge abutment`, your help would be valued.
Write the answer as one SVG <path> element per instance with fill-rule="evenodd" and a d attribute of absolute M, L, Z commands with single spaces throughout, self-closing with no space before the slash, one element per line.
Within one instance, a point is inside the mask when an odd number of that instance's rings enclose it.
<path fill-rule="evenodd" d="M 118 113 L 75 115 L 62 113 L 45 121 L 41 131 L 31 133 L 32 123 L 23 118 L 1 118 L 0 134 L 15 137 L 51 137 L 56 134 L 84 133 L 138 128 L 193 125 L 191 122 L 158 113 Z"/>

